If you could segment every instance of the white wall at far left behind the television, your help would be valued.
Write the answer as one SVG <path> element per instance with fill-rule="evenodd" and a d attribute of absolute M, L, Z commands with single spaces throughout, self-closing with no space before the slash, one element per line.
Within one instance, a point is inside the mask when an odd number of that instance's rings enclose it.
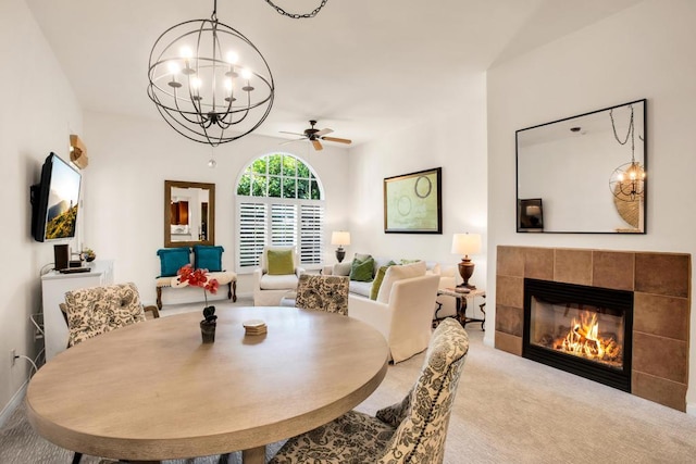
<path fill-rule="evenodd" d="M 0 173 L 7 199 L 0 233 L 0 424 L 21 399 L 29 363 L 10 367 L 10 350 L 35 358 L 29 321 L 41 309 L 39 269 L 53 262 L 53 247 L 32 239 L 29 186 L 54 151 L 69 160 L 70 134 L 82 133 L 82 112 L 63 72 L 23 1 L 0 2 Z"/>

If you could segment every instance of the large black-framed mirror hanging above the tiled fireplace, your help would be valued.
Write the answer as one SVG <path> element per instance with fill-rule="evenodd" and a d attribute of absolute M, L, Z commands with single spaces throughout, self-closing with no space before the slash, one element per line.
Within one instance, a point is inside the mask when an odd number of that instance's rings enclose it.
<path fill-rule="evenodd" d="M 518 130 L 517 230 L 645 234 L 645 120 L 643 99 Z"/>

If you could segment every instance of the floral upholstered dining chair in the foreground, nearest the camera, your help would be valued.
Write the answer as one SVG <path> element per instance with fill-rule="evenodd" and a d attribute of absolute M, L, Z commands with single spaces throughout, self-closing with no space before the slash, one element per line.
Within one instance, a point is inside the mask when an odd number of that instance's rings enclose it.
<path fill-rule="evenodd" d="M 468 351 L 467 331 L 446 318 L 435 329 L 421 374 L 403 401 L 377 411 L 375 417 L 350 411 L 290 438 L 269 464 L 442 464 Z"/>

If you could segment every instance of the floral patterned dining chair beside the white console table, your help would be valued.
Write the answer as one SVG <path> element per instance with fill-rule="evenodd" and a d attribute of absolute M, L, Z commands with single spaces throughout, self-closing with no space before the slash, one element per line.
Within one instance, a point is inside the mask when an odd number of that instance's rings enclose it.
<path fill-rule="evenodd" d="M 135 284 L 67 291 L 60 306 L 70 331 L 67 347 L 146 319 Z M 156 306 L 148 306 L 147 311 L 159 317 Z"/>

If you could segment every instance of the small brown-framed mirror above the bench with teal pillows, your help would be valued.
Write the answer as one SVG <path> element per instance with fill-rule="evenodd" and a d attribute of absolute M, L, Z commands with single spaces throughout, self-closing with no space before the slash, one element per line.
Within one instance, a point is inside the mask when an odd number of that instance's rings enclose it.
<path fill-rule="evenodd" d="M 164 247 L 215 244 L 215 185 L 164 180 Z"/>

